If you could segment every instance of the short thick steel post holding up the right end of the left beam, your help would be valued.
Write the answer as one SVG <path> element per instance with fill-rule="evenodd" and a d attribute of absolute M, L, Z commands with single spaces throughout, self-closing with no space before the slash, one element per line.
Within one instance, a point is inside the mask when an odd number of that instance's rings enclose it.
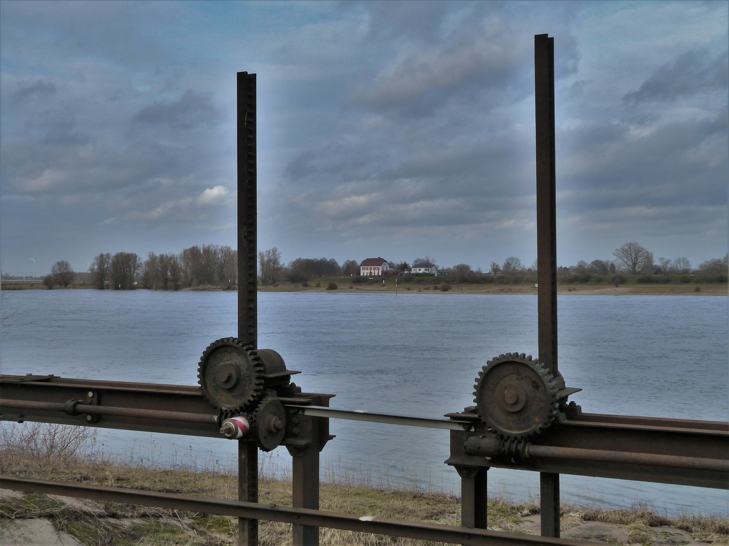
<path fill-rule="evenodd" d="M 319 446 L 296 450 L 292 481 L 292 506 L 319 510 Z M 293 525 L 292 545 L 319 546 L 319 527 Z"/>

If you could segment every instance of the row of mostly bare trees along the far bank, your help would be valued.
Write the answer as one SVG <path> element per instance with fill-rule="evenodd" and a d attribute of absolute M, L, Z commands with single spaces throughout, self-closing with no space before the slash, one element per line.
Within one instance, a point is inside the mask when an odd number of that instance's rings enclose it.
<path fill-rule="evenodd" d="M 691 263 L 685 257 L 675 259 L 658 258 L 655 264 L 653 254 L 637 242 L 626 242 L 613 252 L 615 260 L 593 260 L 589 264 L 580 260 L 575 266 L 559 267 L 558 274 L 607 275 L 625 272 L 627 274 L 679 274 L 691 273 Z M 726 276 L 729 254 L 724 258 L 712 258 L 699 265 L 701 274 Z M 416 258 L 412 266 L 407 261 L 389 262 L 393 269 L 408 271 L 411 267 L 434 265 L 430 256 Z M 296 258 L 285 265 L 278 248 L 258 253 L 260 281 L 272 285 L 279 280 L 304 282 L 316 278 L 359 275 L 359 261 L 347 260 L 341 266 L 334 258 Z M 530 267 L 522 264 L 515 256 L 509 256 L 503 264 L 491 262 L 488 272 L 473 271 L 469 264 L 456 264 L 452 268 L 439 267 L 443 272 L 465 279 L 479 274 L 493 277 L 514 277 L 537 273 L 537 261 Z M 238 282 L 238 251 L 229 246 L 196 245 L 185 248 L 179 254 L 155 254 L 150 252 L 146 260 L 136 253 L 100 253 L 93 259 L 88 271 L 96 288 L 131 290 L 139 286 L 154 290 L 178 290 L 179 288 L 213 285 L 225 289 L 233 288 Z M 66 260 L 53 264 L 49 275 L 44 277 L 48 288 L 55 285 L 68 286 L 74 280 L 74 270 Z"/>

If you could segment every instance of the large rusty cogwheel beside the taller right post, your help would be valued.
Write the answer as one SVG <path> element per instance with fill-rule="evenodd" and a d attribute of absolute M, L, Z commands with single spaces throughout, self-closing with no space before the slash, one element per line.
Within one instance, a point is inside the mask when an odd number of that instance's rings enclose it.
<path fill-rule="evenodd" d="M 478 415 L 502 438 L 521 440 L 538 434 L 558 413 L 559 379 L 524 353 L 499 355 L 488 360 L 476 378 Z"/>

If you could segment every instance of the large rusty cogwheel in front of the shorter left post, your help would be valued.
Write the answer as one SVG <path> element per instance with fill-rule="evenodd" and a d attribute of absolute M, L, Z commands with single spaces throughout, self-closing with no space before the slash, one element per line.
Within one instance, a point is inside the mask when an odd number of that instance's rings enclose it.
<path fill-rule="evenodd" d="M 229 414 L 255 405 L 263 393 L 265 366 L 252 347 L 238 338 L 211 343 L 198 366 L 198 382 L 205 400 Z"/>

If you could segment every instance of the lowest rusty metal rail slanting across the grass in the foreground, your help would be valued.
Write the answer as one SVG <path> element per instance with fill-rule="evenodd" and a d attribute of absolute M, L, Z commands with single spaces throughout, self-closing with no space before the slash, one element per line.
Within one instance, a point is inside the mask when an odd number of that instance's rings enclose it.
<path fill-rule="evenodd" d="M 327 510 L 311 510 L 290 506 L 264 505 L 256 502 L 241 502 L 223 499 L 203 499 L 156 491 L 138 491 L 120 487 L 92 486 L 87 483 L 69 483 L 36 478 L 15 478 L 0 475 L 0 488 L 16 491 L 31 491 L 52 495 L 73 496 L 82 499 L 121 502 L 187 510 L 196 513 L 230 515 L 238 518 L 281 521 L 294 525 L 345 529 L 362 533 L 386 534 L 391 537 L 448 542 L 472 546 L 588 546 L 590 542 L 569 539 L 535 537 L 522 533 L 469 529 L 442 523 L 378 518 L 371 515 L 354 515 Z"/>

